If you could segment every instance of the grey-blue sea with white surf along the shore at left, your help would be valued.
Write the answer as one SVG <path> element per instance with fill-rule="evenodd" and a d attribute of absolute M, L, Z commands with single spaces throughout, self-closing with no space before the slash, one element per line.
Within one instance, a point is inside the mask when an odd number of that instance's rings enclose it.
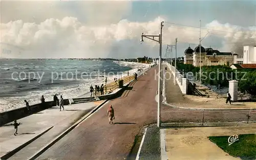
<path fill-rule="evenodd" d="M 113 60 L 0 59 L 0 112 L 40 103 L 44 95 L 64 99 L 82 97 L 91 85 L 130 75 L 149 64 Z"/>

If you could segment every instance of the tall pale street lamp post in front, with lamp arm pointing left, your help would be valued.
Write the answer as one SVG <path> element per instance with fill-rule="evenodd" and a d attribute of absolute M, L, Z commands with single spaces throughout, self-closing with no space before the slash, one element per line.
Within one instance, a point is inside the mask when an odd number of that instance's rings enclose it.
<path fill-rule="evenodd" d="M 157 41 L 159 43 L 159 71 L 158 71 L 158 104 L 157 104 L 157 127 L 161 127 L 161 104 L 162 104 L 162 29 L 163 21 L 160 25 L 160 34 L 159 35 L 141 35 L 141 42 L 143 42 L 143 37 Z M 158 40 L 155 39 L 158 37 Z"/>

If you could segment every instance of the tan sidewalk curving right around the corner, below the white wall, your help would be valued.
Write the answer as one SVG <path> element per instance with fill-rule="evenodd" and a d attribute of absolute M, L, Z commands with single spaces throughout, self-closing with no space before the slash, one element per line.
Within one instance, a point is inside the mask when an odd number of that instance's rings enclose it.
<path fill-rule="evenodd" d="M 166 65 L 164 65 L 165 67 Z M 167 67 L 167 71 L 170 70 Z M 168 74 L 167 74 L 168 75 Z M 167 105 L 184 109 L 230 110 L 230 109 L 256 109 L 255 102 L 234 102 L 226 104 L 224 98 L 206 98 L 201 96 L 183 95 L 174 84 L 174 76 L 165 78 L 165 98 Z"/>

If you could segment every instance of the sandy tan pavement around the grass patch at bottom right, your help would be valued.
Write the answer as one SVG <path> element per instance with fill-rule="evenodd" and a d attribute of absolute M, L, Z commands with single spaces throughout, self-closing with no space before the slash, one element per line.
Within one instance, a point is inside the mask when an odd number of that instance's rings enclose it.
<path fill-rule="evenodd" d="M 208 140 L 207 137 L 255 134 L 256 123 L 249 124 L 248 126 L 172 128 L 162 130 L 164 130 L 162 134 L 165 134 L 166 153 L 162 150 L 161 154 L 167 155 L 168 159 L 236 160 L 240 158 L 228 155 L 215 143 Z"/>

